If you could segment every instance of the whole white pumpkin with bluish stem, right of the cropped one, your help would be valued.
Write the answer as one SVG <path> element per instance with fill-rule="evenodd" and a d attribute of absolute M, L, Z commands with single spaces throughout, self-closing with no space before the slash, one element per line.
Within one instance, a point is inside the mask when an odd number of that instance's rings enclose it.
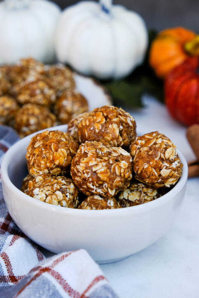
<path fill-rule="evenodd" d="M 143 61 L 148 44 L 140 15 L 111 0 L 82 1 L 66 8 L 56 30 L 60 62 L 100 79 L 128 75 Z"/>

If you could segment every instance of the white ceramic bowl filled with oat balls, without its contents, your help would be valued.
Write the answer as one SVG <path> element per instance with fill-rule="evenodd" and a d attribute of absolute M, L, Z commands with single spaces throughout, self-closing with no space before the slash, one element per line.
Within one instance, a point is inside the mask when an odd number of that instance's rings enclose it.
<path fill-rule="evenodd" d="M 66 128 L 60 125 L 50 130 L 66 131 Z M 46 249 L 60 253 L 83 248 L 98 263 L 108 263 L 151 245 L 166 233 L 176 218 L 188 173 L 180 152 L 184 164 L 182 176 L 161 198 L 122 209 L 70 209 L 37 201 L 19 190 L 27 175 L 25 154 L 31 136 L 18 141 L 4 156 L 3 193 L 14 222 L 25 235 Z"/>

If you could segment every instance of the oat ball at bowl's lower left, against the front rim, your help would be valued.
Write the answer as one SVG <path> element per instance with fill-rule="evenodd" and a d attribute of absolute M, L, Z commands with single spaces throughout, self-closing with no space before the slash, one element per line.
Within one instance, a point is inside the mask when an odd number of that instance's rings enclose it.
<path fill-rule="evenodd" d="M 76 208 L 79 204 L 78 191 L 73 181 L 65 176 L 37 176 L 29 181 L 25 193 L 56 206 Z"/>

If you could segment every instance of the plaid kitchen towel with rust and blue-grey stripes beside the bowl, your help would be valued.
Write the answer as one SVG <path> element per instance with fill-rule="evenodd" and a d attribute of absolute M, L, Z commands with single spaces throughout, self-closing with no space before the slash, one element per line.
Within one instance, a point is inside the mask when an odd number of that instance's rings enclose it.
<path fill-rule="evenodd" d="M 13 129 L 0 125 L 0 163 L 17 140 Z M 0 297 L 118 298 L 85 250 L 56 255 L 28 239 L 7 211 L 1 182 Z"/>

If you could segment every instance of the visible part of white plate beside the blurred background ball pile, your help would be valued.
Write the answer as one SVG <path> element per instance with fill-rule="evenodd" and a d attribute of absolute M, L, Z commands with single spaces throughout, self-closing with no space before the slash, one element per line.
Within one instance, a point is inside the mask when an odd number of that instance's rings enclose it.
<path fill-rule="evenodd" d="M 89 104 L 89 111 L 99 108 L 103 105 L 111 105 L 112 98 L 107 90 L 91 77 L 85 77 L 74 73 L 73 75 L 76 89 L 84 95 Z"/>

